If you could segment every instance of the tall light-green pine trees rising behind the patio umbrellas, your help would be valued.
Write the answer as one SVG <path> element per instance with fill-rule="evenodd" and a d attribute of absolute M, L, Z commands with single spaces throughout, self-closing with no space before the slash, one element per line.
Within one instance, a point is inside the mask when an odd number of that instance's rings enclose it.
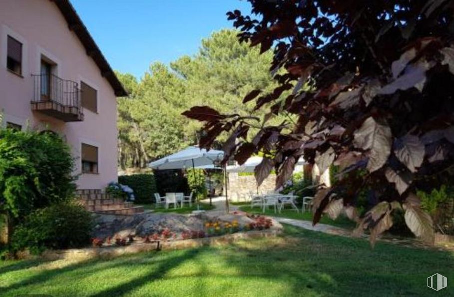
<path fill-rule="evenodd" d="M 240 43 L 237 33 L 214 32 L 202 40 L 194 56 L 182 56 L 170 67 L 153 63 L 140 81 L 117 73 L 130 93 L 129 98 L 118 99 L 122 168 L 144 167 L 150 160 L 196 144 L 201 125 L 181 115 L 189 107 L 209 104 L 248 115 L 254 105 L 241 104 L 243 97 L 253 89 L 275 86 L 266 71 L 272 54 L 260 55 L 257 48 Z"/>

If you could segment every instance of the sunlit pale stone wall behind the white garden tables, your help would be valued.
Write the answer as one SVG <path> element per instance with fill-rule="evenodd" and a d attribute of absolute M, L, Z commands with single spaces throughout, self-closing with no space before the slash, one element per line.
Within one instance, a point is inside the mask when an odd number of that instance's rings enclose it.
<path fill-rule="evenodd" d="M 260 185 L 259 193 L 274 191 L 276 175 L 270 174 Z M 254 175 L 239 176 L 238 173 L 229 173 L 229 199 L 233 202 L 250 201 L 250 193 L 257 193 L 257 182 Z"/>

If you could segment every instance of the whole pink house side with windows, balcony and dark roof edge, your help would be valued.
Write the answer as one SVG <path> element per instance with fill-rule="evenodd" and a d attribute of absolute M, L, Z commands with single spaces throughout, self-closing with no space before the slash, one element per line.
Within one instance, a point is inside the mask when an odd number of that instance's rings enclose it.
<path fill-rule="evenodd" d="M 68 0 L 0 1 L 0 124 L 61 135 L 79 189 L 117 180 L 116 97 L 126 95 Z"/>

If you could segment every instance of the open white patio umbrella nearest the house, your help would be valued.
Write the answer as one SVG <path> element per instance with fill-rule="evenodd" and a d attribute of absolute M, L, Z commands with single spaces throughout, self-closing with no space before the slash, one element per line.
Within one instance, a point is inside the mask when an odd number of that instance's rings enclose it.
<path fill-rule="evenodd" d="M 148 167 L 157 170 L 186 169 L 190 167 L 192 167 L 193 169 L 195 168 L 214 169 L 217 168 L 216 167 L 217 164 L 215 163 L 222 160 L 223 158 L 224 158 L 223 151 L 219 150 L 207 151 L 206 149 L 201 149 L 197 146 L 190 146 L 182 151 L 161 158 L 159 160 L 153 161 L 148 164 Z M 227 193 L 225 194 L 227 199 Z M 198 203 L 197 209 L 199 209 Z"/>

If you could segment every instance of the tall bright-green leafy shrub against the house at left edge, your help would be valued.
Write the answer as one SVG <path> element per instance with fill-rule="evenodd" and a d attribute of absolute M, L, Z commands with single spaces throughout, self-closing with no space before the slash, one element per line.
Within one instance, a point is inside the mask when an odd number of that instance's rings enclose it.
<path fill-rule="evenodd" d="M 70 147 L 48 132 L 0 129 L 0 213 L 22 218 L 74 195 Z"/>

